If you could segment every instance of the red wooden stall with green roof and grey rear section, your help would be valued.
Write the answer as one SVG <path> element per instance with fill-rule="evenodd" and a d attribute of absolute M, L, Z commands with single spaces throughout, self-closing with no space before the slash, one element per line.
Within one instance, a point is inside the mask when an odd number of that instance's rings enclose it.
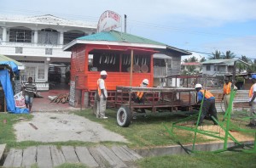
<path fill-rule="evenodd" d="M 180 72 L 181 56 L 191 54 L 182 49 L 172 48 L 119 31 L 102 31 L 82 36 L 67 44 L 64 51 L 71 51 L 72 105 L 77 106 L 90 100 L 96 91 L 100 71 L 108 72 L 108 93 L 114 94 L 117 86 L 137 87 L 143 79 L 149 80 L 148 87 L 154 87 L 154 75 L 159 78 Z M 170 58 L 170 59 L 169 59 Z M 158 62 L 154 59 L 160 59 Z M 168 67 L 168 62 L 171 67 Z M 155 72 L 158 66 L 162 70 Z M 166 70 L 166 72 L 164 71 Z M 108 97 L 115 98 L 114 95 Z M 84 106 L 88 105 L 85 101 Z"/>

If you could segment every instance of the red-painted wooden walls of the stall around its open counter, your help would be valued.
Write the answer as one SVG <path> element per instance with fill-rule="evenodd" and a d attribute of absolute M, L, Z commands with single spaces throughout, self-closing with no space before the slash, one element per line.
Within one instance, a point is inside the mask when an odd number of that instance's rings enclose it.
<path fill-rule="evenodd" d="M 109 49 L 109 50 L 120 50 L 126 51 L 131 50 L 131 47 L 124 46 L 111 46 L 108 45 L 79 45 L 72 49 L 71 58 L 71 81 L 76 81 L 76 88 L 86 89 L 86 90 L 96 90 L 96 81 L 100 77 L 100 72 L 98 71 L 88 71 L 88 53 L 93 49 Z M 148 48 L 134 48 L 139 50 L 140 53 L 150 53 L 150 72 L 148 73 L 133 73 L 132 74 L 132 87 L 137 87 L 143 79 L 147 78 L 149 80 L 148 87 L 153 86 L 153 49 Z M 108 90 L 115 90 L 116 86 L 130 86 L 130 72 L 108 72 L 108 78 L 106 79 L 106 84 Z"/>

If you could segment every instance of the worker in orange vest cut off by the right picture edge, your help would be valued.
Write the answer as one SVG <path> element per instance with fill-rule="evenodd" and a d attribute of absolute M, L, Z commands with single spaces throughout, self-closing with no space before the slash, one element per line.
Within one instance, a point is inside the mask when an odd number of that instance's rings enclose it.
<path fill-rule="evenodd" d="M 249 90 L 249 105 L 251 107 L 251 120 L 246 126 L 256 128 L 256 74 L 252 75 L 253 86 Z"/>

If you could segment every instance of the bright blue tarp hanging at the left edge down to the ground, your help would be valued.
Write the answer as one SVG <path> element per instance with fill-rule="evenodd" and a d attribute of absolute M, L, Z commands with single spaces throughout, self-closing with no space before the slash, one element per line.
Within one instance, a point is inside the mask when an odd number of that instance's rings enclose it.
<path fill-rule="evenodd" d="M 8 70 L 0 70 L 0 82 L 2 84 L 3 92 L 5 94 L 7 110 L 10 113 L 27 114 L 28 109 L 20 109 L 15 107 L 14 91 L 9 78 Z"/>

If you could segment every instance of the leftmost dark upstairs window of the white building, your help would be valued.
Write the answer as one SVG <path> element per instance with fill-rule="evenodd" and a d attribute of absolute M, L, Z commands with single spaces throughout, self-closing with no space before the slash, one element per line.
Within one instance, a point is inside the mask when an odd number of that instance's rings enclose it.
<path fill-rule="evenodd" d="M 9 42 L 31 42 L 32 31 L 22 29 L 10 29 Z"/>

